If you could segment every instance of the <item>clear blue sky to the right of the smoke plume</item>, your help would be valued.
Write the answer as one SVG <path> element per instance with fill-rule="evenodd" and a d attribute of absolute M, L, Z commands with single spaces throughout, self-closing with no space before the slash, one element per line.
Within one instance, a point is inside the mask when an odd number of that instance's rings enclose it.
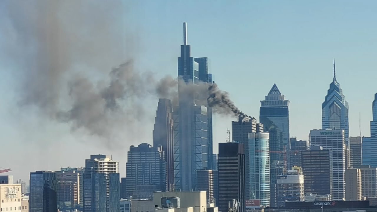
<path fill-rule="evenodd" d="M 321 128 L 321 104 L 333 78 L 349 103 L 350 135 L 369 135 L 377 92 L 376 1 L 141 1 L 132 10 L 143 51 L 161 74 L 176 75 L 182 22 L 194 57 L 209 57 L 210 72 L 236 105 L 258 117 L 274 83 L 291 101 L 291 136 Z M 221 119 L 223 120 L 223 119 Z M 225 139 L 230 120 L 215 122 Z"/>

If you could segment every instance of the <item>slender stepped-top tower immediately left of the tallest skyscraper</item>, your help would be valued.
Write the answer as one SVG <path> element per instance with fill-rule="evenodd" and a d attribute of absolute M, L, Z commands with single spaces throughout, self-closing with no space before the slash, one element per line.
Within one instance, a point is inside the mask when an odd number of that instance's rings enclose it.
<path fill-rule="evenodd" d="M 153 146 L 162 146 L 166 162 L 166 189 L 174 189 L 174 119 L 173 106 L 169 99 L 160 98 L 158 101 L 155 125 L 153 129 Z"/>

